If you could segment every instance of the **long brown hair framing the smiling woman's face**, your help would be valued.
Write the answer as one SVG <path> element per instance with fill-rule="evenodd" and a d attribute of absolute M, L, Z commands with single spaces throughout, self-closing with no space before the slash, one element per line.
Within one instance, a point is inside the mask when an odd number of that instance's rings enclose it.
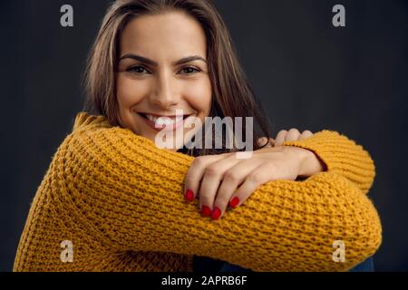
<path fill-rule="evenodd" d="M 255 94 L 239 62 L 227 25 L 211 0 L 118 0 L 112 4 L 102 21 L 102 27 L 89 55 L 84 85 L 86 101 L 83 111 L 103 115 L 119 126 L 115 72 L 119 60 L 121 32 L 132 19 L 144 14 L 180 11 L 189 14 L 202 25 L 207 38 L 209 78 L 212 85 L 212 103 L 209 117 L 253 117 L 253 150 L 261 148 L 257 139 L 270 136 L 270 124 L 258 105 Z M 245 121 L 242 130 L 245 132 Z M 235 134 L 235 131 L 234 131 Z M 215 136 L 215 134 L 212 134 Z M 244 133 L 245 137 L 245 133 Z M 205 140 L 205 136 L 202 136 Z M 236 149 L 183 148 L 183 153 L 200 156 L 218 154 Z"/>

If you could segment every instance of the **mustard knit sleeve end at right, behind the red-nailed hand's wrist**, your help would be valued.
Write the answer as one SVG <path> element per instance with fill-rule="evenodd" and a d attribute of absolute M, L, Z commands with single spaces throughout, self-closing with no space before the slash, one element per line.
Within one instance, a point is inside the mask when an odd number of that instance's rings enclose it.
<path fill-rule="evenodd" d="M 375 167 L 368 151 L 336 131 L 319 131 L 305 140 L 287 141 L 283 145 L 314 151 L 327 171 L 352 181 L 364 194 L 373 185 Z"/>

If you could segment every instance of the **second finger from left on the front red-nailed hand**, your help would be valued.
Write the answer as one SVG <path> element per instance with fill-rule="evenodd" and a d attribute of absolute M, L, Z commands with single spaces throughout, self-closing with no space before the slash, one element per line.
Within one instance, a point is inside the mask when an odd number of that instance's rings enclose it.
<path fill-rule="evenodd" d="M 199 187 L 199 209 L 202 216 L 209 216 L 214 209 L 214 200 L 224 173 L 239 162 L 234 157 L 224 158 L 210 164 L 206 169 Z"/>

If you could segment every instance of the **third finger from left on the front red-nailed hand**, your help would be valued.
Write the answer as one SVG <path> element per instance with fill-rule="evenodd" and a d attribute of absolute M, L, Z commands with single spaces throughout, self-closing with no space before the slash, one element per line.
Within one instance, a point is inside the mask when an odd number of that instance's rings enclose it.
<path fill-rule="evenodd" d="M 262 160 L 241 161 L 231 169 L 228 169 L 224 174 L 217 197 L 214 200 L 212 219 L 219 219 L 224 215 L 231 196 L 237 191 L 238 186 L 246 179 L 248 174 L 259 166 L 260 162 Z"/>

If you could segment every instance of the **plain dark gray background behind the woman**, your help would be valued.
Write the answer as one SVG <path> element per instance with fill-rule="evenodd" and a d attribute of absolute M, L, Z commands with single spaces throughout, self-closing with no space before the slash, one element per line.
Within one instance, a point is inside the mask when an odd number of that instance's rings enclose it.
<path fill-rule="evenodd" d="M 0 271 L 10 271 L 34 193 L 82 109 L 80 79 L 108 1 L 2 1 Z M 60 26 L 73 5 L 74 27 Z M 408 270 L 407 1 L 219 0 L 275 131 L 340 131 L 372 154 L 384 227 L 380 271 Z M 343 4 L 346 27 L 332 25 Z"/>

